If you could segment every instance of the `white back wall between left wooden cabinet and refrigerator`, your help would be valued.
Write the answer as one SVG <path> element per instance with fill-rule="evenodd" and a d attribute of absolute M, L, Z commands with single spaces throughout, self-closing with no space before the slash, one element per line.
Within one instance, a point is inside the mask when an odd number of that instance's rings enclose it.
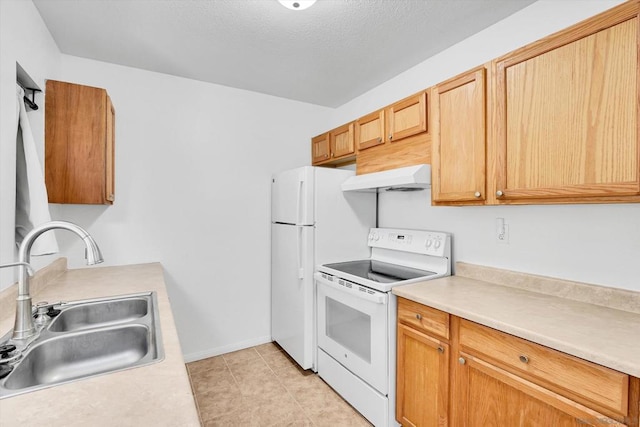
<path fill-rule="evenodd" d="M 116 201 L 52 215 L 86 226 L 107 265 L 162 262 L 187 359 L 269 341 L 270 177 L 309 162 L 329 109 L 68 55 L 58 78 L 112 98 Z"/>

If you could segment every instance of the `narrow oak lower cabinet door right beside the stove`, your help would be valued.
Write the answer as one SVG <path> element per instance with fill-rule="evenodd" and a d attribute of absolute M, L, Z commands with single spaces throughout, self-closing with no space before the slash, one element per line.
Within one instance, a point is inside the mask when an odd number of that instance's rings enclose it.
<path fill-rule="evenodd" d="M 396 419 L 403 426 L 447 425 L 449 346 L 398 325 Z"/>

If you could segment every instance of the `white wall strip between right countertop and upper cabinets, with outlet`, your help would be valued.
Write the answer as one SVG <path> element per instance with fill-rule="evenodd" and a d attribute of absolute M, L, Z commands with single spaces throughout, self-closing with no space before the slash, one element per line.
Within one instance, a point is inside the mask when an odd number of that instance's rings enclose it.
<path fill-rule="evenodd" d="M 380 195 L 384 227 L 453 233 L 453 260 L 640 291 L 640 204 L 432 207 L 430 191 Z M 496 218 L 509 244 L 496 238 Z"/>

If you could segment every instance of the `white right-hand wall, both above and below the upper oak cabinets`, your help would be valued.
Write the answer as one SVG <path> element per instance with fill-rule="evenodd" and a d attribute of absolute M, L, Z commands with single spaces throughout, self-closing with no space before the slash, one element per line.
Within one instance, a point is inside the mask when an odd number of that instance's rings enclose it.
<path fill-rule="evenodd" d="M 543 0 L 343 105 L 332 126 L 432 86 L 621 1 Z M 453 233 L 453 259 L 640 291 L 640 204 L 432 207 L 430 191 L 380 195 L 380 226 Z M 496 218 L 509 225 L 498 244 Z"/>

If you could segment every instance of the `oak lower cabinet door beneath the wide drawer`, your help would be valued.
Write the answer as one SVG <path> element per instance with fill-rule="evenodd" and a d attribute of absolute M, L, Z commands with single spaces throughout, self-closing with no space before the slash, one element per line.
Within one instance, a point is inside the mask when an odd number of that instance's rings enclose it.
<path fill-rule="evenodd" d="M 480 358 L 460 353 L 452 394 L 454 425 L 624 426 Z"/>

